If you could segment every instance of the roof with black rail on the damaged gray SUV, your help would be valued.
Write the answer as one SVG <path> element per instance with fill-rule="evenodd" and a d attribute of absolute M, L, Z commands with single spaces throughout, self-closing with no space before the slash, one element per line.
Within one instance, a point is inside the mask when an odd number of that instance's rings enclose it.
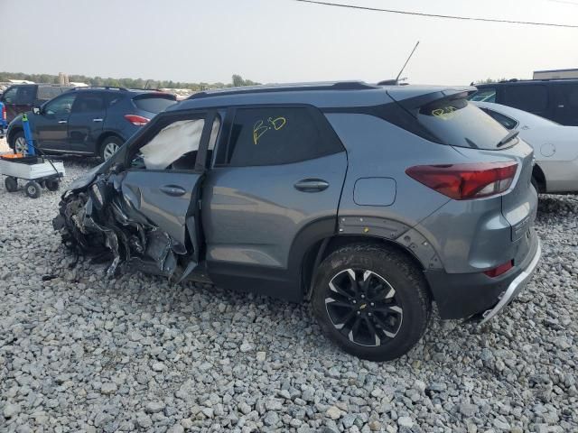
<path fill-rule="evenodd" d="M 380 86 L 363 81 L 275 84 L 208 90 L 192 95 L 166 111 L 261 104 L 304 104 L 320 108 L 377 106 L 391 103 L 393 99 L 401 100 L 439 93 L 448 89 L 452 90 L 452 93 L 455 93 L 457 89 L 475 90 L 475 88 L 439 86 Z"/>

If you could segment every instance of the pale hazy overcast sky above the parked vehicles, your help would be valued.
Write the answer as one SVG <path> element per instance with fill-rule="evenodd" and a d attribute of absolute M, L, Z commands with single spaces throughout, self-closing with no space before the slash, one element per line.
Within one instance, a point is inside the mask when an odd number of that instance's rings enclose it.
<path fill-rule="evenodd" d="M 334 0 L 578 24 L 578 0 Z M 395 78 L 469 84 L 578 68 L 578 29 L 472 23 L 294 0 L 0 0 L 0 70 L 262 83 Z"/>

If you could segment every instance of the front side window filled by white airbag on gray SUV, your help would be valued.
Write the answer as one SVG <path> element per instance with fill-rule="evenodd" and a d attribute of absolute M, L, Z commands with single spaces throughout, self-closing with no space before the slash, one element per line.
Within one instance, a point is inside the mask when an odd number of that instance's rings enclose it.
<path fill-rule="evenodd" d="M 194 170 L 204 118 L 178 120 L 163 127 L 133 159 L 133 168 Z"/>

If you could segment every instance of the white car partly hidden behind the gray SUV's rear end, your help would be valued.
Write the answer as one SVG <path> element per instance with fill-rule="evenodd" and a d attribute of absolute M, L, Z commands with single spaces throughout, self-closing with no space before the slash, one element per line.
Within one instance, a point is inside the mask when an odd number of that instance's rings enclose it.
<path fill-rule="evenodd" d="M 534 148 L 532 183 L 538 192 L 578 191 L 578 126 L 564 126 L 511 106 L 474 102 Z"/>

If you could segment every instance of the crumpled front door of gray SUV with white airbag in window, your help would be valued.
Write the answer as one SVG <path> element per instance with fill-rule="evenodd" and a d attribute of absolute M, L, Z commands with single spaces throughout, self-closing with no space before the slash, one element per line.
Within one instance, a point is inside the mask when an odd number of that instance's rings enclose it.
<path fill-rule="evenodd" d="M 126 200 L 172 239 L 176 253 L 199 261 L 199 188 L 213 115 L 164 116 L 135 143 L 122 180 Z M 132 156 L 130 156 L 132 155 Z"/>

